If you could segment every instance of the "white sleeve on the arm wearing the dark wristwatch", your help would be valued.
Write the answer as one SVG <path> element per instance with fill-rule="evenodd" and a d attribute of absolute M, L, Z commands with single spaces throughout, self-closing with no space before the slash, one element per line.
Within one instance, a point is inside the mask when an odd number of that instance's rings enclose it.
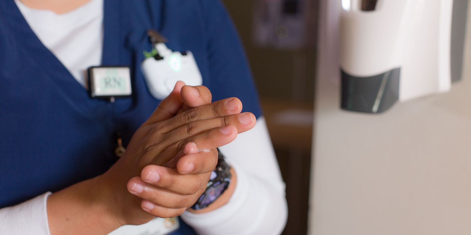
<path fill-rule="evenodd" d="M 265 119 L 260 117 L 250 132 L 219 149 L 237 175 L 234 193 L 214 211 L 187 211 L 182 218 L 200 234 L 281 233 L 287 218 L 285 186 Z"/>

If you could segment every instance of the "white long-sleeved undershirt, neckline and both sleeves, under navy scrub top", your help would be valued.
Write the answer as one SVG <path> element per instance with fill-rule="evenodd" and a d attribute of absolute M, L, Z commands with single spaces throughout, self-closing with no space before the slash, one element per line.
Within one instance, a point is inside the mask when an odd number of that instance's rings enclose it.
<path fill-rule="evenodd" d="M 90 0 L 65 14 L 26 7 L 15 0 L 24 18 L 73 77 L 87 87 L 85 71 L 101 64 L 103 0 Z M 274 235 L 287 219 L 284 182 L 281 178 L 265 119 L 219 148 L 232 164 L 237 185 L 229 202 L 203 214 L 186 211 L 181 217 L 199 234 Z M 48 194 L 0 209 L 0 231 L 7 234 L 50 235 Z M 32 222 L 30 222 L 32 221 Z M 28 226 L 26 226 L 26 224 Z"/>

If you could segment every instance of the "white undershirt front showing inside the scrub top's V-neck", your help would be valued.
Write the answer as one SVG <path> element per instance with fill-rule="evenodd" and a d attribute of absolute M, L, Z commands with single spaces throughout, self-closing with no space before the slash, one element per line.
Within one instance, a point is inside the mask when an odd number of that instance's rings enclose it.
<path fill-rule="evenodd" d="M 86 71 L 103 51 L 103 0 L 90 0 L 65 14 L 32 9 L 15 0 L 32 31 L 85 88 Z"/>

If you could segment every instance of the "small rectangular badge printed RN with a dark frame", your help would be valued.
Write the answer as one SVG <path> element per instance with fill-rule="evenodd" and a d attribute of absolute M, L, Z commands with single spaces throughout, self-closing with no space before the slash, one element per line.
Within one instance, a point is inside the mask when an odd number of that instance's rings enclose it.
<path fill-rule="evenodd" d="M 132 94 L 130 68 L 126 66 L 90 67 L 89 93 L 92 98 L 125 97 Z"/>

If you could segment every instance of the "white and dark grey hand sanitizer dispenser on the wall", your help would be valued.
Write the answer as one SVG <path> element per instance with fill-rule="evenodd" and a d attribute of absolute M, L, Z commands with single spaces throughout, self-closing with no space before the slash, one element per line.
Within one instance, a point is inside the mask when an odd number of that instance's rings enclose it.
<path fill-rule="evenodd" d="M 461 79 L 468 0 L 339 0 L 341 108 L 381 113 Z"/>

